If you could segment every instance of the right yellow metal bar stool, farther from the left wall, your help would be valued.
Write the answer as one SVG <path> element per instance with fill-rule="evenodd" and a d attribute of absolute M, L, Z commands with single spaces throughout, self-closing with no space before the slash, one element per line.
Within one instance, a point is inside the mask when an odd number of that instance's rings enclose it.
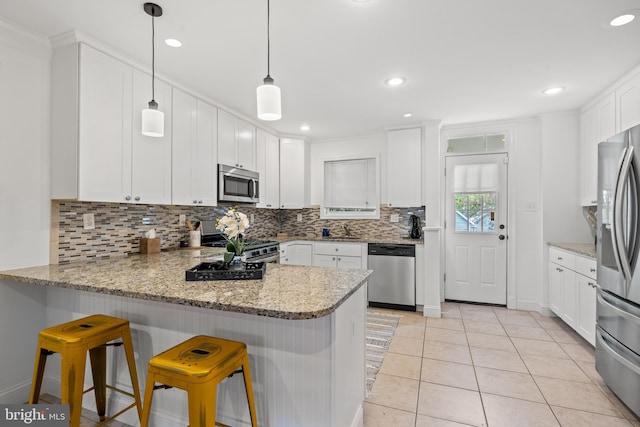
<path fill-rule="evenodd" d="M 235 373 L 243 374 L 251 425 L 256 427 L 246 344 L 205 335 L 190 338 L 149 360 L 140 425 L 147 427 L 149 423 L 153 391 L 175 387 L 187 392 L 190 427 L 224 426 L 215 421 L 217 386 Z"/>

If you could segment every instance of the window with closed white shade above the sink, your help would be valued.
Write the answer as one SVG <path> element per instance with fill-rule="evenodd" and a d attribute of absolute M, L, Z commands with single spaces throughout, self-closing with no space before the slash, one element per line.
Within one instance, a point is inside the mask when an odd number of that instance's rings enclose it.
<path fill-rule="evenodd" d="M 328 159 L 320 218 L 380 218 L 379 157 Z"/>

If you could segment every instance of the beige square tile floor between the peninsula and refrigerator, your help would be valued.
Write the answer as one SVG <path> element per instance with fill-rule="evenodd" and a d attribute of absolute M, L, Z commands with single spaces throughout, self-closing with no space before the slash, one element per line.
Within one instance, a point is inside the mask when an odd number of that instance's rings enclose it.
<path fill-rule="evenodd" d="M 558 318 L 458 303 L 440 319 L 396 313 L 365 427 L 640 427 Z"/>

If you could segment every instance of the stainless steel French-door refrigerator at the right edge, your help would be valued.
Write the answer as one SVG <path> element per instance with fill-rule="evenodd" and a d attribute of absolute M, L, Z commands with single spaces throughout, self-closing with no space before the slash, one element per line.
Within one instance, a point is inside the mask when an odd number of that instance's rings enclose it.
<path fill-rule="evenodd" d="M 596 370 L 640 415 L 640 126 L 598 145 Z"/>

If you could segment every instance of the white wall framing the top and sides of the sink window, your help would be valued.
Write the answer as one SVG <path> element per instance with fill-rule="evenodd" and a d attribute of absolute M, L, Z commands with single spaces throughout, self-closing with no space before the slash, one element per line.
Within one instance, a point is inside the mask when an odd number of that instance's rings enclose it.
<path fill-rule="evenodd" d="M 380 203 L 387 203 L 387 134 L 348 139 L 316 140 L 311 143 L 311 205 L 322 202 L 324 161 L 331 158 L 367 158 L 380 155 Z"/>

